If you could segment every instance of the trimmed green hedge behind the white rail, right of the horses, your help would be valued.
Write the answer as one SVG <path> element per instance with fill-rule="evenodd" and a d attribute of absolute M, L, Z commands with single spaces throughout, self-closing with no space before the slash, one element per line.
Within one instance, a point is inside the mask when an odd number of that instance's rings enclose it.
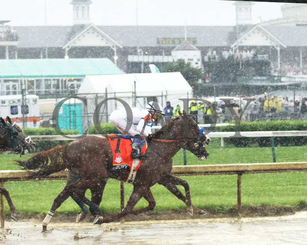
<path fill-rule="evenodd" d="M 255 122 L 241 122 L 240 131 L 291 131 L 291 130 L 307 130 L 307 120 L 271 120 L 271 121 L 255 121 Z M 225 127 L 217 127 L 219 132 L 233 132 L 234 125 Z M 261 147 L 270 146 L 270 137 L 244 137 L 244 138 L 224 138 L 226 143 L 235 145 L 237 147 L 246 147 L 251 144 L 258 144 Z M 275 146 L 297 146 L 306 145 L 307 137 L 274 137 Z"/>

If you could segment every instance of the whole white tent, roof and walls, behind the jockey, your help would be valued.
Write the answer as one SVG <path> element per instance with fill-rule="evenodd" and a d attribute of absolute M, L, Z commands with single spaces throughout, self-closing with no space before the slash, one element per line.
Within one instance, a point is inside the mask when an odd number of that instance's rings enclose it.
<path fill-rule="evenodd" d="M 173 107 L 177 104 L 183 108 L 181 98 L 192 98 L 192 87 L 180 72 L 141 73 L 118 75 L 88 75 L 84 78 L 79 90 L 79 97 L 87 99 L 83 114 L 92 124 L 92 117 L 97 105 L 106 98 L 124 100 L 130 106 L 145 108 L 148 100 L 155 100 L 166 106 L 170 101 Z M 122 107 L 119 101 L 109 100 L 101 107 L 100 122 L 107 120 L 106 115 Z"/>

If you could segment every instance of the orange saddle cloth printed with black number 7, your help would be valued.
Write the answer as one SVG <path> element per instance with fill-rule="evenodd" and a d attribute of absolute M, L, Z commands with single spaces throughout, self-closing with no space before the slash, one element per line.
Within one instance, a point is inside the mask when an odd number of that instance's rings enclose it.
<path fill-rule="evenodd" d="M 131 170 L 132 166 L 132 141 L 130 138 L 121 138 L 116 134 L 107 134 L 107 138 L 109 139 L 112 153 L 113 153 L 113 166 L 115 169 L 126 169 Z M 145 137 L 141 138 L 142 150 L 140 152 L 141 155 L 144 155 L 147 149 L 147 142 Z M 142 159 L 140 160 L 138 166 L 135 168 L 135 171 L 138 171 L 140 165 L 142 163 Z"/>

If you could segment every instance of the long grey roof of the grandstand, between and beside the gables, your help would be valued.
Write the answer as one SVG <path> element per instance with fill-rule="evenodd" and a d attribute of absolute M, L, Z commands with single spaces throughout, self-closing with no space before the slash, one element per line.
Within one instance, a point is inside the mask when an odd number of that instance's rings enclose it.
<path fill-rule="evenodd" d="M 63 47 L 88 26 L 19 26 L 19 48 Z M 247 33 L 254 26 L 247 26 Z M 183 38 L 183 26 L 97 26 L 123 47 L 158 47 L 157 38 Z M 266 25 L 266 31 L 286 46 L 307 46 L 307 26 Z M 188 38 L 196 38 L 196 47 L 230 47 L 234 26 L 187 26 Z M 162 45 L 161 45 L 162 46 Z M 163 45 L 174 47 L 173 44 Z"/>

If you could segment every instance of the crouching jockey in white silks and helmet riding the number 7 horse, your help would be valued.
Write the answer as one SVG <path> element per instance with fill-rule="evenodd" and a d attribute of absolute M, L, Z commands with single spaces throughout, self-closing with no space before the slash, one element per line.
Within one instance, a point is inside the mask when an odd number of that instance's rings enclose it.
<path fill-rule="evenodd" d="M 153 123 L 150 122 L 159 121 L 165 113 L 162 105 L 155 101 L 150 101 L 146 109 L 131 107 L 131 111 L 132 118 L 128 118 L 125 108 L 121 107 L 111 113 L 110 121 L 119 131 L 134 137 L 131 155 L 133 159 L 141 159 L 143 156 L 138 153 L 141 134 L 148 137 L 153 126 Z M 125 131 L 128 123 L 131 126 L 128 131 Z"/>

